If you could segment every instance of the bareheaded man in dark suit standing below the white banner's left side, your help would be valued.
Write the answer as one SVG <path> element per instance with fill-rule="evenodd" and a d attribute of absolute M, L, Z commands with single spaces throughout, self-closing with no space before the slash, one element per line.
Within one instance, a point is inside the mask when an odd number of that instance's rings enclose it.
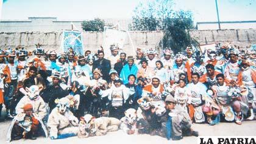
<path fill-rule="evenodd" d="M 104 52 L 102 50 L 98 51 L 97 57 L 98 57 L 98 60 L 94 61 L 93 63 L 93 71 L 96 68 L 100 69 L 102 74 L 102 79 L 109 82 L 110 81 L 109 71 L 111 69 L 110 60 L 107 60 L 104 58 Z"/>

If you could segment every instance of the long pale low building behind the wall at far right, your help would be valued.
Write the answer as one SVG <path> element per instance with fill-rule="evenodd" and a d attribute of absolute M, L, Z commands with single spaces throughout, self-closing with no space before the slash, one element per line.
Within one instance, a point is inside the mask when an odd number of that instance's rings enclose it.
<path fill-rule="evenodd" d="M 256 21 L 221 21 L 221 29 L 256 29 Z M 218 22 L 197 22 L 197 30 L 217 30 Z"/>

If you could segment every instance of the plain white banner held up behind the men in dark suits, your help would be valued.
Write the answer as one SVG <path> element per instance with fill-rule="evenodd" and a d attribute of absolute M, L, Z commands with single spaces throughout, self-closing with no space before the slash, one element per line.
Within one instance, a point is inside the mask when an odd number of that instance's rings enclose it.
<path fill-rule="evenodd" d="M 103 49 L 105 57 L 109 57 L 111 55 L 110 45 L 112 44 L 118 44 L 119 49 L 123 49 L 126 37 L 127 32 L 125 32 L 124 30 L 105 29 L 103 39 Z"/>

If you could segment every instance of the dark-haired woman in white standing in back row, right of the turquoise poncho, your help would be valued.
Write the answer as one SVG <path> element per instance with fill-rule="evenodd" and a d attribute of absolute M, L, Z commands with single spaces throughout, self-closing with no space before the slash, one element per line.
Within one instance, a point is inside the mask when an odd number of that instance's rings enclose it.
<path fill-rule="evenodd" d="M 161 83 L 168 83 L 170 78 L 167 70 L 163 67 L 162 61 L 156 61 L 155 66 L 155 76 L 160 78 Z"/>

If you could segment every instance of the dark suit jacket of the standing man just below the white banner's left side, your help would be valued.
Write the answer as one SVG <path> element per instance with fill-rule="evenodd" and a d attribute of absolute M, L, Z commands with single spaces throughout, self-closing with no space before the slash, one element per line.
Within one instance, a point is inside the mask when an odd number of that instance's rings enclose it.
<path fill-rule="evenodd" d="M 93 70 L 94 69 L 101 69 L 102 79 L 106 80 L 107 82 L 110 81 L 110 75 L 108 74 L 111 69 L 110 60 L 103 58 L 102 63 L 100 64 L 100 60 L 96 60 L 93 63 Z"/>

